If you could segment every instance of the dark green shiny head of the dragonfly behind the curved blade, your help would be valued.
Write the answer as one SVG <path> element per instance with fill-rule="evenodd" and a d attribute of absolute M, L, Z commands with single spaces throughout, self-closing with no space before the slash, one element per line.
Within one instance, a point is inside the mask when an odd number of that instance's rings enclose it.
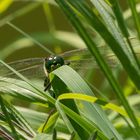
<path fill-rule="evenodd" d="M 50 56 L 45 59 L 45 69 L 48 73 L 64 65 L 64 59 L 61 56 Z"/>

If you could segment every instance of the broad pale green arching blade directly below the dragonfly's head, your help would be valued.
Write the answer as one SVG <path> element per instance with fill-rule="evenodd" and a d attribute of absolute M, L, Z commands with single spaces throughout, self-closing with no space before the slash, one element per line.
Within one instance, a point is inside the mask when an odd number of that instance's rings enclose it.
<path fill-rule="evenodd" d="M 62 66 L 53 71 L 52 74 L 57 75 L 67 85 L 70 91 L 74 93 L 84 93 L 90 96 L 94 95 L 84 80 L 70 67 Z M 98 105 L 82 101 L 80 103 L 83 106 L 80 108 L 82 114 L 95 123 L 108 138 L 116 137 L 116 139 L 121 139 L 115 128 L 107 119 L 103 110 Z"/>

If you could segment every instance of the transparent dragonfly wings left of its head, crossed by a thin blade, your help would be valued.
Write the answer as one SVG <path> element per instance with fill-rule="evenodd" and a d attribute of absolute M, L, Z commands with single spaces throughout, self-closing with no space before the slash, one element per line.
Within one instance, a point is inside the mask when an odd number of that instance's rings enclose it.
<path fill-rule="evenodd" d="M 43 58 L 29 58 L 8 63 L 8 65 L 10 65 L 12 68 L 14 68 L 25 77 L 32 79 L 45 77 L 43 63 Z M 16 74 L 14 74 L 11 70 L 1 64 L 0 76 L 18 78 Z"/>

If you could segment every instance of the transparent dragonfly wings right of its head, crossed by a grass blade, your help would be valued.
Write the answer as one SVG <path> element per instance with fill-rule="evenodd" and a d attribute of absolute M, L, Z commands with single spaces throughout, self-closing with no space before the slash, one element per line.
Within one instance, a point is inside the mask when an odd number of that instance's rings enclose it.
<path fill-rule="evenodd" d="M 114 68 L 119 64 L 118 59 L 114 56 L 111 50 L 106 49 L 106 47 L 100 47 L 99 49 L 110 67 Z M 70 62 L 70 66 L 74 69 L 99 68 L 95 58 L 91 55 L 87 48 L 68 51 L 61 54 L 61 56 L 64 57 L 66 62 Z"/>

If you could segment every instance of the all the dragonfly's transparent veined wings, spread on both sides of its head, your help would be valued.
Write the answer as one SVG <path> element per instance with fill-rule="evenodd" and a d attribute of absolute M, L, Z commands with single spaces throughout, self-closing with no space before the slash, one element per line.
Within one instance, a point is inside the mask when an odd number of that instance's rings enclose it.
<path fill-rule="evenodd" d="M 135 42 L 134 50 L 137 52 L 137 56 L 139 57 L 139 43 L 136 45 L 135 39 L 132 41 Z M 119 60 L 114 56 L 111 50 L 107 49 L 107 47 L 99 47 L 99 50 L 110 67 L 116 67 L 120 65 Z M 93 58 L 86 48 L 67 51 L 60 55 L 66 60 L 66 63 L 70 62 L 70 66 L 74 69 L 98 68 L 95 58 Z M 43 70 L 43 63 L 44 58 L 29 58 L 9 63 L 9 65 L 27 78 L 44 78 L 45 73 Z M 1 64 L 0 76 L 12 78 L 17 77 L 8 68 L 2 66 Z"/>

